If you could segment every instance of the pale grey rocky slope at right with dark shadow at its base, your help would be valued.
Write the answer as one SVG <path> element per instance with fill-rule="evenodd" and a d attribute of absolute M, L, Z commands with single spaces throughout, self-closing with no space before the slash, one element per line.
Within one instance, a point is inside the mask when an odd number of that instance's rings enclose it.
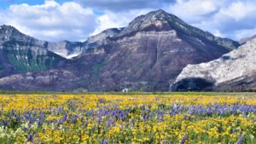
<path fill-rule="evenodd" d="M 172 91 L 256 90 L 255 55 L 256 38 L 217 60 L 186 66 L 170 89 Z"/>

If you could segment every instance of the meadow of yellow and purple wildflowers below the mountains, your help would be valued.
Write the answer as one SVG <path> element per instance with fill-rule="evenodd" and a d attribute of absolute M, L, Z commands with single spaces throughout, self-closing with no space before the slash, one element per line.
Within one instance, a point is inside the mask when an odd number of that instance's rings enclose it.
<path fill-rule="evenodd" d="M 0 143 L 256 143 L 256 96 L 1 95 Z"/>

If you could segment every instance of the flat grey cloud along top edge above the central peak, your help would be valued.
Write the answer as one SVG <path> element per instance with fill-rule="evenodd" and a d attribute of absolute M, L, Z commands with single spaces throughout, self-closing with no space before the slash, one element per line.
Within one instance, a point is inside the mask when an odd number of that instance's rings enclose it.
<path fill-rule="evenodd" d="M 93 7 L 109 11 L 125 11 L 131 9 L 158 9 L 176 0 L 76 0 L 84 7 Z"/>

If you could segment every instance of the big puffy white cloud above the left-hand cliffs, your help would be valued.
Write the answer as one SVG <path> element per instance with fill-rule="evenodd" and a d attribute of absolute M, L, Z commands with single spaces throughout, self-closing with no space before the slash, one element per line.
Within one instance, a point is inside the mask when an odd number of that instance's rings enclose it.
<path fill-rule="evenodd" d="M 50 41 L 84 40 L 96 29 L 93 10 L 74 2 L 11 5 L 0 10 L 0 16 L 0 24 L 15 26 L 20 32 Z"/>

